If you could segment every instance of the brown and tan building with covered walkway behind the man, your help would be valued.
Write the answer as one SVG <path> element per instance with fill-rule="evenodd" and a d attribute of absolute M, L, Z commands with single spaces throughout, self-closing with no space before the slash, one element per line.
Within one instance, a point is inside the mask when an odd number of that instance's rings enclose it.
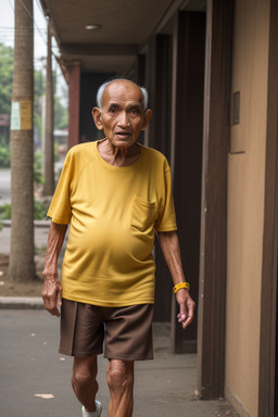
<path fill-rule="evenodd" d="M 142 1 L 146 21 L 129 2 L 139 20 L 137 27 L 131 18 L 130 42 L 123 41 L 125 2 L 103 1 L 100 10 L 80 0 L 75 12 L 65 1 L 40 2 L 70 86 L 70 147 L 99 138 L 90 111 L 100 83 L 125 76 L 149 90 L 153 119 L 140 140 L 170 162 L 198 303 L 198 319 L 181 332 L 155 248 L 155 319 L 172 321 L 173 351 L 198 352 L 201 397 L 224 395 L 240 416 L 277 415 L 278 1 L 164 0 L 150 10 Z M 75 26 L 81 5 L 94 5 L 111 30 L 123 7 L 122 26 L 109 40 L 101 30 L 83 39 Z"/>

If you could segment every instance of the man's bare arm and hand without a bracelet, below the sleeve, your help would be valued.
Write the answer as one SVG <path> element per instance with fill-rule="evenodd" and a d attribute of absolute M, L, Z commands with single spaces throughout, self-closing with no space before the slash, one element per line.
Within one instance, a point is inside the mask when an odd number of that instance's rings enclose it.
<path fill-rule="evenodd" d="M 43 287 L 41 296 L 43 305 L 52 316 L 60 317 L 58 306 L 62 305 L 62 286 L 58 276 L 58 257 L 63 245 L 67 225 L 51 222 L 46 254 L 46 265 L 42 271 Z"/>

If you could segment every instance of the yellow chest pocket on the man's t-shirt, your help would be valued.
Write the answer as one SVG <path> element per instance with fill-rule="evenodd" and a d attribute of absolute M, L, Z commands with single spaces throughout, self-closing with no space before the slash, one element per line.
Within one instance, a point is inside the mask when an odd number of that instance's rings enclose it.
<path fill-rule="evenodd" d="M 153 227 L 156 215 L 155 203 L 135 197 L 131 205 L 130 225 L 140 231 L 147 231 Z"/>

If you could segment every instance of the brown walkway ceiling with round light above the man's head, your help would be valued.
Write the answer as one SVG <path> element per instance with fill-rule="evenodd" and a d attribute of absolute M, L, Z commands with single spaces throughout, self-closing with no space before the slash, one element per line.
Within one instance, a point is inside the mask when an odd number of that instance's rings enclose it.
<path fill-rule="evenodd" d="M 40 0 L 60 48 L 60 61 L 83 71 L 125 74 L 149 37 L 179 9 L 204 10 L 205 0 Z M 98 24 L 97 30 L 86 29 Z"/>

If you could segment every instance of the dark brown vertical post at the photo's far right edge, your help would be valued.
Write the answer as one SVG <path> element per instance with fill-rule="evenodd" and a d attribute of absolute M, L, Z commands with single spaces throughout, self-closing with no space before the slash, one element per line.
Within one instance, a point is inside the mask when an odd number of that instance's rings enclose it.
<path fill-rule="evenodd" d="M 270 0 L 258 416 L 274 416 L 278 257 L 278 1 Z"/>

